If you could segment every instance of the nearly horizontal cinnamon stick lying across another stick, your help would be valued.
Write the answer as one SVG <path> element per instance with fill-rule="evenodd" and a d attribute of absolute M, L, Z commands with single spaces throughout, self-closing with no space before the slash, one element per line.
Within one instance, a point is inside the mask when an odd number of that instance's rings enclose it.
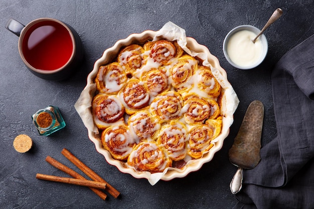
<path fill-rule="evenodd" d="M 46 175 L 37 173 L 36 178 L 43 179 L 43 180 L 49 180 L 49 181 L 56 181 L 56 182 L 62 182 L 62 183 L 70 183 L 70 184 L 76 184 L 80 186 L 89 186 L 94 188 L 100 188 L 105 189 L 106 183 L 104 182 L 97 182 L 97 181 L 91 181 L 91 180 L 84 180 L 84 179 L 77 179 L 77 178 L 67 178 L 67 177 L 60 177 L 55 175 Z"/>

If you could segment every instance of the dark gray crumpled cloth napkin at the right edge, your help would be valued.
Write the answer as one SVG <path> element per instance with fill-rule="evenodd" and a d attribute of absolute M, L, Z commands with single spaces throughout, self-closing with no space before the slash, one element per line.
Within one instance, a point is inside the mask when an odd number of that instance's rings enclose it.
<path fill-rule="evenodd" d="M 243 170 L 234 209 L 314 208 L 314 35 L 279 60 L 271 79 L 277 137 Z"/>

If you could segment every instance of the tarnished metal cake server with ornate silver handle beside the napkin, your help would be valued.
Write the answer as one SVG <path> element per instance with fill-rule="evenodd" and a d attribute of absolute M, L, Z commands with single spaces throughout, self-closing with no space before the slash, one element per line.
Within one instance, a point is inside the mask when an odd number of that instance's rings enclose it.
<path fill-rule="evenodd" d="M 253 101 L 244 115 L 239 132 L 229 149 L 229 160 L 238 166 L 232 178 L 230 189 L 233 194 L 242 188 L 242 169 L 252 169 L 260 161 L 261 135 L 264 119 L 264 105 L 260 101 Z"/>

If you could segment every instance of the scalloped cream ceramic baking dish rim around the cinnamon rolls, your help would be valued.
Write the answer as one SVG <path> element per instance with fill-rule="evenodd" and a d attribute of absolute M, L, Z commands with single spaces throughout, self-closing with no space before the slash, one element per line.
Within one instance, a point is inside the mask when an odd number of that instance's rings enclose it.
<path fill-rule="evenodd" d="M 127 167 L 126 163 L 114 159 L 111 156 L 111 154 L 103 148 L 101 144 L 100 134 L 98 133 L 98 129 L 92 122 L 93 119 L 91 115 L 91 101 L 95 95 L 94 78 L 96 77 L 99 67 L 101 65 L 105 65 L 112 62 L 112 60 L 116 58 L 121 48 L 128 46 L 130 44 L 144 44 L 146 41 L 152 40 L 156 33 L 157 32 L 154 31 L 144 31 L 141 34 L 131 34 L 126 39 L 117 41 L 113 47 L 105 50 L 103 56 L 95 62 L 92 72 L 87 77 L 87 85 L 83 92 L 81 93 L 79 100 L 75 104 L 76 110 L 81 116 L 84 125 L 88 129 L 88 136 L 90 140 L 94 142 L 97 151 L 106 158 L 107 162 L 111 165 L 116 166 L 121 172 L 129 173 L 135 178 L 147 178 L 150 184 L 152 185 L 155 184 L 159 179 L 171 180 L 177 177 L 184 177 L 190 172 L 200 169 L 204 163 L 212 160 L 214 154 L 222 148 L 224 139 L 229 134 L 229 127 L 233 123 L 233 113 L 237 108 L 239 102 L 235 92 L 233 91 L 233 88 L 227 81 L 227 74 L 225 70 L 219 65 L 218 59 L 209 52 L 207 47 L 198 44 L 195 39 L 188 37 L 186 38 L 187 41 L 186 46 L 189 49 L 193 50 L 193 52 L 202 53 L 203 55 L 204 54 L 206 55 L 205 59 L 207 59 L 207 61 L 212 65 L 212 67 L 216 69 L 215 75 L 218 74 L 217 80 L 221 83 L 222 88 L 224 88 L 224 86 L 226 87 L 226 89 L 222 90 L 223 92 L 222 99 L 223 104 L 221 107 L 223 115 L 222 131 L 220 135 L 216 138 L 217 141 L 215 142 L 214 146 L 210 149 L 208 153 L 204 154 L 202 158 L 193 160 L 193 163 L 191 163 L 189 166 L 186 166 L 184 169 L 170 168 L 164 173 L 151 174 L 150 172 L 147 171 L 138 172 L 130 167 Z M 86 94 L 88 95 L 87 97 Z"/>

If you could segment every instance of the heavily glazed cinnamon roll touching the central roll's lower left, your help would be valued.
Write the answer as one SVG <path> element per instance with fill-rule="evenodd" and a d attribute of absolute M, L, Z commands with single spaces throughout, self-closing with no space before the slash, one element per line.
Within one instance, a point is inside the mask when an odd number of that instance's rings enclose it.
<path fill-rule="evenodd" d="M 155 121 L 147 110 L 139 111 L 128 118 L 127 121 L 139 139 L 151 139 L 160 129 L 160 123 Z"/>

